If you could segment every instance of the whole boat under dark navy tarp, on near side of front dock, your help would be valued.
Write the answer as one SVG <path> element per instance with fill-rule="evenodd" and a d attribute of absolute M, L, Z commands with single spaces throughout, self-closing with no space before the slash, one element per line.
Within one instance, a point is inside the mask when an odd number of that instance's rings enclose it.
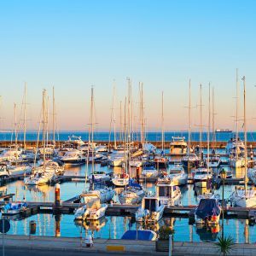
<path fill-rule="evenodd" d="M 221 208 L 215 199 L 205 198 L 195 208 L 195 224 L 218 224 Z"/>

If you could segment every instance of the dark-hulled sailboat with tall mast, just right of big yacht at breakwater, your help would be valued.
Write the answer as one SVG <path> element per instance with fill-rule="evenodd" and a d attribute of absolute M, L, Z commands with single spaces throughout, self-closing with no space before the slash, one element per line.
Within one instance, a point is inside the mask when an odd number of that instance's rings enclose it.
<path fill-rule="evenodd" d="M 199 166 L 200 158 L 196 154 L 191 154 L 191 81 L 189 79 L 189 140 L 187 155 L 183 157 L 182 163 L 185 169 L 189 170 L 191 168 Z"/>

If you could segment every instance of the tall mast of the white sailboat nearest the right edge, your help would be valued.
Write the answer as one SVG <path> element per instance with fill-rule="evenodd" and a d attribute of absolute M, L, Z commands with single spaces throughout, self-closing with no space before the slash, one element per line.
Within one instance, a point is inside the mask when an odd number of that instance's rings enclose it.
<path fill-rule="evenodd" d="M 243 131 L 244 131 L 244 187 L 245 187 L 245 195 L 247 195 L 247 105 L 246 105 L 246 78 L 245 76 L 242 78 L 243 80 Z"/>

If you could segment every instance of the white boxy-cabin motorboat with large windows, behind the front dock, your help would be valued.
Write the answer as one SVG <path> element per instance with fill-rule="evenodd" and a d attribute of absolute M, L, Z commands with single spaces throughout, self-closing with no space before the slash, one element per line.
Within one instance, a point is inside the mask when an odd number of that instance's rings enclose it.
<path fill-rule="evenodd" d="M 180 201 L 181 191 L 169 177 L 158 178 L 155 195 L 160 198 L 165 206 L 177 206 Z"/>

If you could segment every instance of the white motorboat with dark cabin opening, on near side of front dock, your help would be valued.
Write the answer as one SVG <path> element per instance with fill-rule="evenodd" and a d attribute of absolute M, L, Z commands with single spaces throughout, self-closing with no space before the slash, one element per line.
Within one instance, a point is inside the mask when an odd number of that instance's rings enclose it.
<path fill-rule="evenodd" d="M 163 217 L 164 210 L 165 205 L 161 204 L 159 197 L 145 196 L 135 218 L 137 222 L 156 223 Z"/>

